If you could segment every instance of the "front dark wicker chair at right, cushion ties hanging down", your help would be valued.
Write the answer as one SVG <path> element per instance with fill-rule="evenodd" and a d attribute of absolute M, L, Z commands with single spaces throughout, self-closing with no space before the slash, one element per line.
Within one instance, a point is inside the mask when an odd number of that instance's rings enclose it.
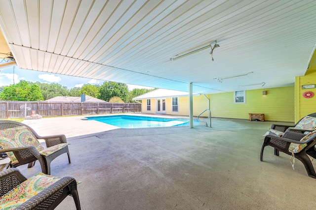
<path fill-rule="evenodd" d="M 305 135 L 287 130 L 282 137 L 267 135 L 261 147 L 260 161 L 262 161 L 263 150 L 268 145 L 275 148 L 275 155 L 277 156 L 279 155 L 279 151 L 281 151 L 293 156 L 293 158 L 299 159 L 304 164 L 307 174 L 316 178 L 312 161 L 308 156 L 316 158 L 316 131 Z M 292 166 L 294 169 L 294 163 Z"/>

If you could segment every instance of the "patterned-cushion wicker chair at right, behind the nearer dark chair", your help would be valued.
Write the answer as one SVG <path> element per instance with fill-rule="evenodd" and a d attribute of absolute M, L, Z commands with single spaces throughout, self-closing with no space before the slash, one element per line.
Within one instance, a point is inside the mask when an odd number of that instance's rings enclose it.
<path fill-rule="evenodd" d="M 283 133 L 290 129 L 293 132 L 304 133 L 313 131 L 316 129 L 316 113 L 309 114 L 302 119 L 300 119 L 295 125 L 278 125 L 272 124 L 270 131 L 272 133 L 277 133 L 276 135 L 283 135 Z M 274 132 L 276 131 L 276 132 Z"/>

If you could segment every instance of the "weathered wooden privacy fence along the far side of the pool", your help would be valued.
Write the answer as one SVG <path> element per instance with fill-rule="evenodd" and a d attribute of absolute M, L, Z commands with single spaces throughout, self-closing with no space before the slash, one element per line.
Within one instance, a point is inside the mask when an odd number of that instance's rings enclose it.
<path fill-rule="evenodd" d="M 23 118 L 30 116 L 32 110 L 43 117 L 110 114 L 141 112 L 142 105 L 138 103 L 76 103 L 76 102 L 24 102 L 0 101 L 0 119 Z"/>

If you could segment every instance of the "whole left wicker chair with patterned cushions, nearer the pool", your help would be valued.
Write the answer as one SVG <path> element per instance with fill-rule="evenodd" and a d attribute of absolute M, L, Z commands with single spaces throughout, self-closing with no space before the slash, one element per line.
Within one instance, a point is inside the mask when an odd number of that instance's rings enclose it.
<path fill-rule="evenodd" d="M 45 140 L 47 148 L 44 149 L 38 139 Z M 42 173 L 50 175 L 50 163 L 59 155 L 67 153 L 71 163 L 65 135 L 41 137 L 20 122 L 0 120 L 0 144 L 7 152 L 12 167 L 29 164 L 30 168 L 39 160 Z"/>

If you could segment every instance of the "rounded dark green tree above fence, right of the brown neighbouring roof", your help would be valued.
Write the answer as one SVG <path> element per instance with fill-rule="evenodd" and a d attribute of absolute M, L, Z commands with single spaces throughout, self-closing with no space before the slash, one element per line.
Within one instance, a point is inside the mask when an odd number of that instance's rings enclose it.
<path fill-rule="evenodd" d="M 117 96 L 123 100 L 127 101 L 128 87 L 124 83 L 119 82 L 104 82 L 99 89 L 99 97 L 103 101 L 110 101 L 114 96 Z"/>

